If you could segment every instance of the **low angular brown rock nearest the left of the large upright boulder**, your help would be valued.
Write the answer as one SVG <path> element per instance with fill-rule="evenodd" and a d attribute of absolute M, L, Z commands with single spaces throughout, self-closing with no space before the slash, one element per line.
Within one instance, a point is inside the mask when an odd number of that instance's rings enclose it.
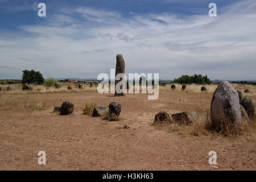
<path fill-rule="evenodd" d="M 174 122 L 179 123 L 180 125 L 191 125 L 191 123 L 196 122 L 196 118 L 196 111 L 172 114 L 172 119 L 174 119 Z"/>

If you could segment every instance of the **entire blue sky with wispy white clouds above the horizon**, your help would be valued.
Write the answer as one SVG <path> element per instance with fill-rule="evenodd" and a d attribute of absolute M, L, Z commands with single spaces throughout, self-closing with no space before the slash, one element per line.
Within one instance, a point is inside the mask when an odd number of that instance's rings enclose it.
<path fill-rule="evenodd" d="M 208 16 L 210 2 L 217 17 Z M 0 79 L 19 79 L 23 69 L 96 78 L 118 53 L 126 73 L 256 79 L 255 32 L 254 0 L 0 0 Z"/>

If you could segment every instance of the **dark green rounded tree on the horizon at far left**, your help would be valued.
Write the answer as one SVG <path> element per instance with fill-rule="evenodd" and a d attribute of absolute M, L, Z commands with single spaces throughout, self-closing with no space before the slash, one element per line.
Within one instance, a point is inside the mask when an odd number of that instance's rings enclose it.
<path fill-rule="evenodd" d="M 42 85 L 44 83 L 43 75 L 39 71 L 28 71 L 27 69 L 23 70 L 22 75 L 22 84 L 36 84 Z"/>

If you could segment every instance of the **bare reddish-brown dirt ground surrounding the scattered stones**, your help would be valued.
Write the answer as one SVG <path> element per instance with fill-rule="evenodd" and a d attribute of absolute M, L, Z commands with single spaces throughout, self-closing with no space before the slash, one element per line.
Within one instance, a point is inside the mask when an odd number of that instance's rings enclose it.
<path fill-rule="evenodd" d="M 256 100 L 255 96 L 252 96 Z M 255 135 L 193 136 L 156 129 L 158 111 L 210 109 L 210 93 L 160 92 L 158 100 L 147 94 L 98 94 L 96 91 L 8 94 L 0 93 L 1 170 L 255 170 Z M 73 114 L 52 113 L 64 101 L 75 105 Z M 122 105 L 119 121 L 104 121 L 82 114 L 94 102 Z M 22 104 L 35 104 L 24 109 Z M 123 129 L 127 124 L 129 129 Z M 46 165 L 38 164 L 45 151 Z M 217 152 L 217 167 L 208 163 Z"/>

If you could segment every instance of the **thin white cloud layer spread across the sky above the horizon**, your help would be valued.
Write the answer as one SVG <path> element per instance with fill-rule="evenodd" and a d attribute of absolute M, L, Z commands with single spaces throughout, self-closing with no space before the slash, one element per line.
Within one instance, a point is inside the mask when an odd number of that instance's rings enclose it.
<path fill-rule="evenodd" d="M 45 77 L 92 78 L 114 68 L 121 53 L 126 72 L 255 79 L 255 10 L 250 0 L 220 9 L 216 18 L 169 13 L 123 18 L 92 7 L 61 9 L 47 16 L 47 23 L 20 27 L 24 36 L 0 36 L 0 64 L 40 70 Z"/>

